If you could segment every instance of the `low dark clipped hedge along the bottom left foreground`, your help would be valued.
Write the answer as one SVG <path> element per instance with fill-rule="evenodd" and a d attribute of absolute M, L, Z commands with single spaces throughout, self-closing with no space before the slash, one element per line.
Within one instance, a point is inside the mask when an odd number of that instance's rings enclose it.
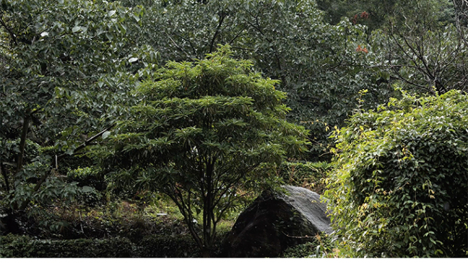
<path fill-rule="evenodd" d="M 0 258 L 196 258 L 198 247 L 190 236 L 36 240 L 8 234 L 0 237 Z"/>

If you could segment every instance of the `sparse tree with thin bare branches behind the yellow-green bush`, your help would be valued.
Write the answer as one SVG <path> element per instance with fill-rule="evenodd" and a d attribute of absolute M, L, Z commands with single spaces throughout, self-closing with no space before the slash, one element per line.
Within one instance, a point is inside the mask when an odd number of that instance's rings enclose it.
<path fill-rule="evenodd" d="M 374 47 L 380 49 L 374 66 L 388 68 L 400 86 L 422 94 L 465 90 L 468 63 L 463 37 L 452 23 L 441 22 L 440 5 L 415 4 L 416 10 L 402 10 L 389 18 L 383 35 L 373 32 Z"/>

